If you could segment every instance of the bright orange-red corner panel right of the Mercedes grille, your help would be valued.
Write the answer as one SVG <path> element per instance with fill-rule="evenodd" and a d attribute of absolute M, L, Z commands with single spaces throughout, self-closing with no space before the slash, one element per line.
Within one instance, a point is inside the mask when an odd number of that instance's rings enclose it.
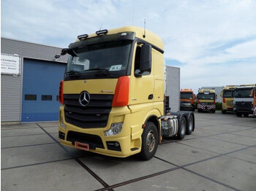
<path fill-rule="evenodd" d="M 127 106 L 129 101 L 129 77 L 119 77 L 112 106 Z"/>

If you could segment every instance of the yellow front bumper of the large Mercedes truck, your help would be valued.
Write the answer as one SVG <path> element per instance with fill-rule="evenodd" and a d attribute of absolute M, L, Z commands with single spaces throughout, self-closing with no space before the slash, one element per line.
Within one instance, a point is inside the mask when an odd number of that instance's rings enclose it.
<path fill-rule="evenodd" d="M 140 152 L 141 130 L 137 139 L 131 138 L 130 111 L 127 107 L 122 109 L 113 109 L 110 112 L 108 125 L 105 128 L 79 128 L 69 124 L 64 120 L 64 106 L 60 108 L 60 118 L 65 128 L 62 128 L 59 121 L 59 140 L 61 144 L 67 147 L 78 148 L 75 143 L 86 144 L 89 146 L 89 152 L 95 152 L 102 155 L 113 157 L 127 157 Z M 115 136 L 105 136 L 104 132 L 109 130 L 110 125 L 115 122 L 123 122 L 121 133 Z M 141 127 L 140 127 L 141 128 Z M 87 148 L 86 148 L 87 149 Z"/>

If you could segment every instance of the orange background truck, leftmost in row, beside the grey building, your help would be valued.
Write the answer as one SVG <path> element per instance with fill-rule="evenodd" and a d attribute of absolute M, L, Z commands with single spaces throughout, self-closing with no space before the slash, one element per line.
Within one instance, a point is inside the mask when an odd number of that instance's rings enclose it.
<path fill-rule="evenodd" d="M 181 89 L 181 105 L 180 110 L 195 111 L 195 94 L 192 89 Z"/>

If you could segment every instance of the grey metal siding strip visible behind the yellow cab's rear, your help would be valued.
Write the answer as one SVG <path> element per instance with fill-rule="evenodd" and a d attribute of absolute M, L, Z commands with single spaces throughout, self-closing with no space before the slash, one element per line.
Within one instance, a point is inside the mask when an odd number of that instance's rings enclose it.
<path fill-rule="evenodd" d="M 179 110 L 180 105 L 180 69 L 166 66 L 166 95 L 169 96 L 172 112 Z"/>

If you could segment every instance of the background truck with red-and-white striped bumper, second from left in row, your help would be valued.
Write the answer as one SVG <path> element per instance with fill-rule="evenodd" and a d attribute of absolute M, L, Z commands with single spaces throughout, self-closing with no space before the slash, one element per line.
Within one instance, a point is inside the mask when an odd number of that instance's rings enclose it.
<path fill-rule="evenodd" d="M 215 113 L 217 95 L 213 89 L 199 89 L 197 93 L 197 112 Z"/>

